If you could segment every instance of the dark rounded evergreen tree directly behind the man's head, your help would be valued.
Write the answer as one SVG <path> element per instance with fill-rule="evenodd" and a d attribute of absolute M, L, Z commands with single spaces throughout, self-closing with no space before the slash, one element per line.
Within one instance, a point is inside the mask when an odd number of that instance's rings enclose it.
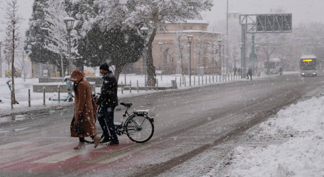
<path fill-rule="evenodd" d="M 116 27 L 102 31 L 98 24 L 94 24 L 83 41 L 80 41 L 78 48 L 80 55 L 86 59 L 87 66 L 99 66 L 103 61 L 114 65 L 118 80 L 126 64 L 141 58 L 144 39 L 134 29 L 122 30 Z"/>

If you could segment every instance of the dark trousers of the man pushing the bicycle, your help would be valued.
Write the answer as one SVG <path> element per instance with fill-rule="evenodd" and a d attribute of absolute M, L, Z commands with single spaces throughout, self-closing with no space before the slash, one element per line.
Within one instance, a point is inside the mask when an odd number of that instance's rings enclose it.
<path fill-rule="evenodd" d="M 114 125 L 114 110 L 115 106 L 101 107 L 98 112 L 97 119 L 105 137 L 110 137 L 112 142 L 119 142 Z"/>

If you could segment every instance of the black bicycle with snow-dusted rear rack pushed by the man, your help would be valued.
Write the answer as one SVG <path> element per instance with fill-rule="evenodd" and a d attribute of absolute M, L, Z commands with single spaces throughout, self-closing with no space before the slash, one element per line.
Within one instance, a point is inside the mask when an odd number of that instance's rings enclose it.
<path fill-rule="evenodd" d="M 117 135 L 126 134 L 129 139 L 136 143 L 145 143 L 151 139 L 154 133 L 154 117 L 148 115 L 149 110 L 133 110 L 133 112 L 128 113 L 128 109 L 131 108 L 133 103 L 120 103 L 120 105 L 123 105 L 126 110 L 122 115 L 122 122 L 114 122 Z M 128 117 L 126 118 L 126 116 Z M 97 117 L 95 116 L 96 121 Z M 103 138 L 103 133 L 100 137 Z M 94 143 L 86 139 L 85 142 Z"/>

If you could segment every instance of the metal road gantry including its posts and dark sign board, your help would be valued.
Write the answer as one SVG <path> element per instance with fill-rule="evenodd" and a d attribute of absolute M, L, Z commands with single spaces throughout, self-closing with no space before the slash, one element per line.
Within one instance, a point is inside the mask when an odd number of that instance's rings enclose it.
<path fill-rule="evenodd" d="M 255 33 L 288 33 L 292 32 L 292 14 L 240 14 L 241 25 L 241 77 L 246 76 L 246 35 L 252 34 L 251 66 L 255 65 L 254 34 Z M 250 66 L 250 67 L 251 67 Z"/>

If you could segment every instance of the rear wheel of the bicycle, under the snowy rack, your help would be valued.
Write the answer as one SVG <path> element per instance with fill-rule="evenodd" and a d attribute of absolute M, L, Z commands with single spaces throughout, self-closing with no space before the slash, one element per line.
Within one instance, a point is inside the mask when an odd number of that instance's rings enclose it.
<path fill-rule="evenodd" d="M 152 138 L 154 125 L 151 119 L 134 115 L 126 121 L 126 134 L 136 143 L 144 143 Z"/>

